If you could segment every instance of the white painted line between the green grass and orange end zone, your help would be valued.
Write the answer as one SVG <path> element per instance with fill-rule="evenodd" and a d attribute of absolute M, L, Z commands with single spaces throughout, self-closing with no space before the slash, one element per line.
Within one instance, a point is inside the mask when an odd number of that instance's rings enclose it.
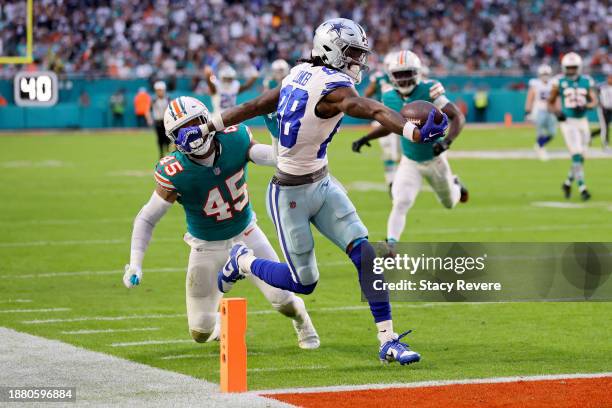
<path fill-rule="evenodd" d="M 361 391 L 379 390 L 384 388 L 420 388 L 420 387 L 440 387 L 444 385 L 461 384 L 497 384 L 518 381 L 546 381 L 546 380 L 571 380 L 577 378 L 604 378 L 612 377 L 612 372 L 604 373 L 584 373 L 584 374 L 547 374 L 547 375 L 526 375 L 515 377 L 492 377 L 492 378 L 472 378 L 466 380 L 441 380 L 441 381 L 419 381 L 411 383 L 391 383 L 391 384 L 361 384 L 361 385 L 338 385 L 330 387 L 304 387 L 304 388 L 284 388 L 273 390 L 252 391 L 255 395 L 270 394 L 302 394 L 311 392 L 338 392 L 338 391 Z"/>

